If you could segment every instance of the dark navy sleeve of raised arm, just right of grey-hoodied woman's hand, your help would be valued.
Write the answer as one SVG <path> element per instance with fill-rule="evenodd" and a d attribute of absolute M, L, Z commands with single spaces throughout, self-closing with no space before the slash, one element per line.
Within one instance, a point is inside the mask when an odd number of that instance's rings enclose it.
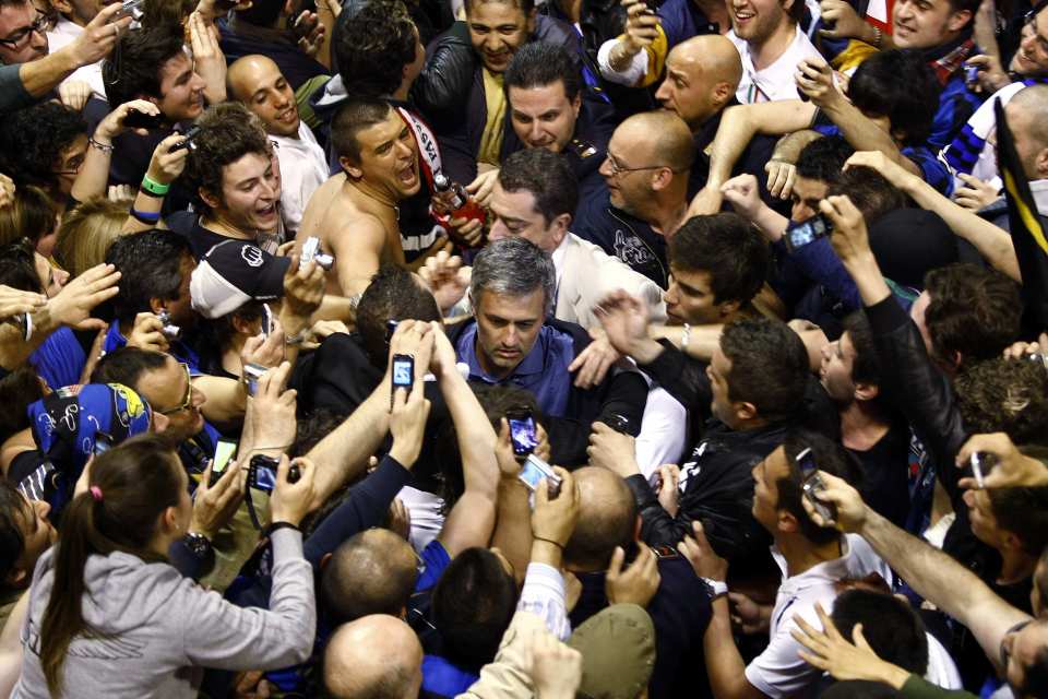
<path fill-rule="evenodd" d="M 393 457 L 383 457 L 374 473 L 354 486 L 346 499 L 306 540 L 302 550 L 306 560 L 319 569 L 321 558 L 344 541 L 380 524 L 410 475 Z"/>

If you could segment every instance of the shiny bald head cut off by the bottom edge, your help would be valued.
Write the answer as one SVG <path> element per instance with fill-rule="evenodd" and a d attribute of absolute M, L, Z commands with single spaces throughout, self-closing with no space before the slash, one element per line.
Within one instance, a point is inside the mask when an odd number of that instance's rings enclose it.
<path fill-rule="evenodd" d="M 335 699 L 417 699 L 422 647 L 407 624 L 372 614 L 345 624 L 324 651 L 324 686 Z"/>

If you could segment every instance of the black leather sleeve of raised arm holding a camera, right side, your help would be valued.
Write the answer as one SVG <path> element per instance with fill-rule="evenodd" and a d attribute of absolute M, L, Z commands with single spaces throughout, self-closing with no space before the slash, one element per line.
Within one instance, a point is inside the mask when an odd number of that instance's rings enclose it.
<path fill-rule="evenodd" d="M 954 458 L 967 438 L 953 388 L 932 364 L 920 332 L 894 297 L 867 307 L 866 316 L 881 359 L 884 393 L 909 420 L 953 499 L 961 475 Z"/>

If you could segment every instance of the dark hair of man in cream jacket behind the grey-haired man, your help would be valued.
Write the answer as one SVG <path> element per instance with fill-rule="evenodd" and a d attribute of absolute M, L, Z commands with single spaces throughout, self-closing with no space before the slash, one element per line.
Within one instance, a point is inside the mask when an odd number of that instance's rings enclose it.
<path fill-rule="evenodd" d="M 502 161 L 499 185 L 508 192 L 531 192 L 547 226 L 561 214 L 574 215 L 579 205 L 579 180 L 571 166 L 546 149 L 524 149 Z"/>

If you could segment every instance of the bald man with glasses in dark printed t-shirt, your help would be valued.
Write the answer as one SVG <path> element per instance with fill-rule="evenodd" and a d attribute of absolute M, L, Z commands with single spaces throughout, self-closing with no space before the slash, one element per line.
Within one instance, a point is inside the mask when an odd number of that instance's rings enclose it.
<path fill-rule="evenodd" d="M 580 202 L 572 230 L 667 288 L 666 239 L 688 210 L 691 132 L 668 111 L 639 114 L 619 125 L 607 153 L 608 194 Z"/>

